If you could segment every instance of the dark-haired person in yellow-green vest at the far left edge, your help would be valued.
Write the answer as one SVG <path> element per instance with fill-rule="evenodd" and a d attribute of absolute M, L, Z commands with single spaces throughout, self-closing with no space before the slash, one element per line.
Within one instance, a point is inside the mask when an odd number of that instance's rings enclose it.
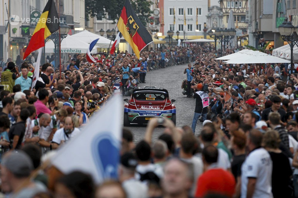
<path fill-rule="evenodd" d="M 19 76 L 18 67 L 14 62 L 7 63 L 7 69 L 1 74 L 1 85 L 4 85 L 4 90 L 13 92 L 13 86 L 15 85 L 15 79 Z"/>

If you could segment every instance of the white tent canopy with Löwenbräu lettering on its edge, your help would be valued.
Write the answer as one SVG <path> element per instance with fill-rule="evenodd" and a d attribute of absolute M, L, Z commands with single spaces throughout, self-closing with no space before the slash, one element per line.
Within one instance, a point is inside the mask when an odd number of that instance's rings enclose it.
<path fill-rule="evenodd" d="M 67 36 L 61 42 L 61 53 L 87 53 L 89 44 L 79 39 Z M 46 53 L 54 53 L 55 45 L 52 40 L 46 42 Z M 97 53 L 96 47 L 93 48 L 91 53 Z"/>

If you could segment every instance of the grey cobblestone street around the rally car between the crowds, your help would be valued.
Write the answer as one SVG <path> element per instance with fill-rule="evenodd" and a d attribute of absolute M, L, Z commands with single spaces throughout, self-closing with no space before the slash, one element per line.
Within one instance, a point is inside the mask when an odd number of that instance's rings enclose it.
<path fill-rule="evenodd" d="M 176 126 L 178 127 L 182 127 L 184 125 L 191 126 L 195 109 L 195 99 L 187 98 L 186 95 L 182 94 L 181 84 L 182 80 L 186 78 L 186 74 L 183 74 L 185 67 L 187 67 L 187 64 L 153 70 L 147 73 L 146 83 L 139 84 L 139 87 L 155 86 L 168 90 L 170 99 L 176 100 L 174 104 L 176 105 Z M 123 122 L 123 114 L 121 122 Z M 137 124 L 132 124 L 132 126 L 128 127 L 134 134 L 135 142 L 139 142 L 144 138 L 146 130 L 145 127 L 146 125 L 142 126 Z M 202 123 L 198 121 L 195 132 L 196 135 L 200 133 L 201 127 Z M 162 134 L 163 130 L 163 127 L 158 127 L 157 129 L 155 129 L 152 138 L 153 141 L 155 141 L 159 137 L 159 135 Z"/>

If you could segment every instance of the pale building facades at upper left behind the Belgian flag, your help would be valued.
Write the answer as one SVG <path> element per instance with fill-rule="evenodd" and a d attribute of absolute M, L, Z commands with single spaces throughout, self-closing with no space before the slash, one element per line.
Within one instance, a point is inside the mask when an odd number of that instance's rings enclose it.
<path fill-rule="evenodd" d="M 10 16 L 10 24 L 6 33 L 10 38 L 8 56 L 15 61 L 18 55 L 21 58 L 23 57 L 23 53 L 31 38 L 29 27 L 31 24 L 36 23 L 36 19 L 40 17 L 47 0 L 7 1 Z M 75 28 L 85 27 L 85 0 L 54 0 L 54 2 L 60 22 L 65 21 L 70 27 L 69 34 L 74 34 Z"/>

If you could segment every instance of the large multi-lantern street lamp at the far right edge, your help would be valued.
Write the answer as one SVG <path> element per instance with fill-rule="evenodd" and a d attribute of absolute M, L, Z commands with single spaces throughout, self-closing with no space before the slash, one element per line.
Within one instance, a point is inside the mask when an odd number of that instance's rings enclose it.
<path fill-rule="evenodd" d="M 280 32 L 281 38 L 286 41 L 291 48 L 291 73 L 294 70 L 293 63 L 293 48 L 296 45 L 298 47 L 298 39 L 294 37 L 295 26 L 292 25 L 291 21 L 284 21 L 279 27 L 278 31 Z M 298 33 L 298 26 L 296 27 L 296 34 Z M 289 72 L 290 73 L 290 72 Z"/>

